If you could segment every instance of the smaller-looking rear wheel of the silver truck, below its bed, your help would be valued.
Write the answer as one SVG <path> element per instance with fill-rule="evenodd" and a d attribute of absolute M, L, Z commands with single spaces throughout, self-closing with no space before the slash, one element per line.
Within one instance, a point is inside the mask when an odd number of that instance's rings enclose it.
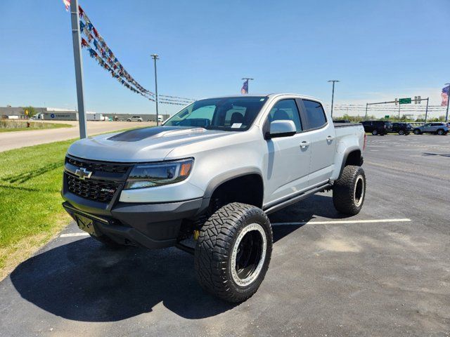
<path fill-rule="evenodd" d="M 333 185 L 333 204 L 343 214 L 354 216 L 361 211 L 366 197 L 366 174 L 360 166 L 348 165 Z"/>

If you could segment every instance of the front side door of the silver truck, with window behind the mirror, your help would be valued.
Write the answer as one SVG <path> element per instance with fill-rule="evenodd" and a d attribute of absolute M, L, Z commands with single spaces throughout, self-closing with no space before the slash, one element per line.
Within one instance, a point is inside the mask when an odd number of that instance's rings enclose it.
<path fill-rule="evenodd" d="M 295 99 L 279 100 L 272 107 L 267 121 L 293 121 L 297 133 L 294 136 L 266 140 L 267 152 L 264 204 L 281 201 L 307 188 L 310 145 L 304 135 L 302 120 Z"/>

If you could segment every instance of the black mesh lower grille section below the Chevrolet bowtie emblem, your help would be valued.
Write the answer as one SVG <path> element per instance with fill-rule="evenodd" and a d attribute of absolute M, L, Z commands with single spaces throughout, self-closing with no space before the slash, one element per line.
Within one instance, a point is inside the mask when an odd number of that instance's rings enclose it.
<path fill-rule="evenodd" d="M 119 184 L 106 180 L 82 180 L 67 172 L 65 176 L 68 190 L 79 197 L 89 200 L 108 203 L 113 199 L 115 192 L 119 188 Z"/>

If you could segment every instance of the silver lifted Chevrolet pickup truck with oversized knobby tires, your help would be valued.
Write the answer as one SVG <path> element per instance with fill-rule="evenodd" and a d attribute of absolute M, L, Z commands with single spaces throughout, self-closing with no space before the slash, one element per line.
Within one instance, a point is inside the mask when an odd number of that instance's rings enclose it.
<path fill-rule="evenodd" d="M 315 98 L 198 100 L 163 126 L 73 143 L 63 206 L 110 246 L 193 253 L 200 285 L 240 302 L 269 267 L 269 213 L 324 190 L 341 213 L 359 213 L 365 143 L 361 124 L 333 124 Z"/>

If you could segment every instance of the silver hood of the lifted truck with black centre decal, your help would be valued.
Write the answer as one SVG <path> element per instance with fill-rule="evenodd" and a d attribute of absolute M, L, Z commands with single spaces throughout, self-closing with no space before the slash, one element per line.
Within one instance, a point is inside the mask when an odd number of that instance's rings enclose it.
<path fill-rule="evenodd" d="M 229 136 L 231 131 L 206 130 L 179 126 L 137 128 L 84 138 L 70 145 L 68 154 L 101 161 L 161 161 L 175 147 Z"/>

